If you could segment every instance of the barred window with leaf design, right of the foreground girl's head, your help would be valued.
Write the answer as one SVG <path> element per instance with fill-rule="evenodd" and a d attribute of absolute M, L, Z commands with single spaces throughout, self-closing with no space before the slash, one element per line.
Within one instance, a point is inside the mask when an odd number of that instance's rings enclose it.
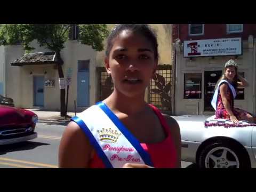
<path fill-rule="evenodd" d="M 162 111 L 172 110 L 172 66 L 159 65 L 156 76 L 151 79 L 149 103 Z"/>

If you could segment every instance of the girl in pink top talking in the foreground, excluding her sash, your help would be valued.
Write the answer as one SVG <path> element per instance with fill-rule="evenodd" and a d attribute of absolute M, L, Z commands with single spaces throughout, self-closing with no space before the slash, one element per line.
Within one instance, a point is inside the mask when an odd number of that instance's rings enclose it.
<path fill-rule="evenodd" d="M 113 79 L 114 91 L 102 105 L 138 140 L 151 161 L 150 164 L 125 163 L 122 167 L 180 167 L 178 123 L 145 102 L 146 87 L 158 64 L 157 47 L 154 31 L 143 24 L 116 25 L 108 38 L 105 66 Z M 70 122 L 63 133 L 59 166 L 107 167 L 76 122 Z"/>

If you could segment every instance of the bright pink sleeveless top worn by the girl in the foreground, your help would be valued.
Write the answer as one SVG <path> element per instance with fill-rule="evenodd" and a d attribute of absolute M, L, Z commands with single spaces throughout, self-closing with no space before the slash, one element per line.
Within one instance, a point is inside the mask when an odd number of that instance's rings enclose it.
<path fill-rule="evenodd" d="M 156 168 L 174 168 L 177 164 L 177 153 L 174 146 L 174 142 L 171 137 L 170 129 L 164 116 L 159 109 L 153 105 L 149 105 L 159 118 L 162 127 L 166 133 L 166 138 L 162 142 L 158 143 L 140 143 L 142 148 L 148 152 L 151 157 L 153 166 Z M 95 153 L 89 163 L 90 168 L 105 168 L 101 158 Z"/>

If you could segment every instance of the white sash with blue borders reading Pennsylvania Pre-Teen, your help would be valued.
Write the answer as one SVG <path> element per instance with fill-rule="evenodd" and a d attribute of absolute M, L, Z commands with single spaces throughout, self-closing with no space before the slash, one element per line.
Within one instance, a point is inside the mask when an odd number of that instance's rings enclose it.
<path fill-rule="evenodd" d="M 140 142 L 105 103 L 98 102 L 71 121 L 81 127 L 106 167 L 120 168 L 125 163 L 153 166 Z"/>

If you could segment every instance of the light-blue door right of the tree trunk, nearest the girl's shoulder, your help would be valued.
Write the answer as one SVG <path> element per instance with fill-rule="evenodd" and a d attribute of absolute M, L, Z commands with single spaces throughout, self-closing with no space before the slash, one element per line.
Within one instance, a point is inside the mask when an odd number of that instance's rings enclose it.
<path fill-rule="evenodd" d="M 88 71 L 78 71 L 77 73 L 77 106 L 89 106 L 89 79 L 90 73 Z"/>

